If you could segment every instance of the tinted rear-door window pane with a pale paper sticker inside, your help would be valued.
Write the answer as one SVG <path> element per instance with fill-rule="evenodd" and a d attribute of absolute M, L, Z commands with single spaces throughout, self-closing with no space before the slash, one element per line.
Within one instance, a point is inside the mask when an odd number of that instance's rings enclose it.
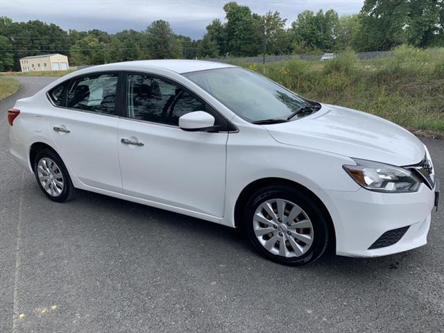
<path fill-rule="evenodd" d="M 114 114 L 117 80 L 117 74 L 83 76 L 74 79 L 68 90 L 67 107 Z"/>

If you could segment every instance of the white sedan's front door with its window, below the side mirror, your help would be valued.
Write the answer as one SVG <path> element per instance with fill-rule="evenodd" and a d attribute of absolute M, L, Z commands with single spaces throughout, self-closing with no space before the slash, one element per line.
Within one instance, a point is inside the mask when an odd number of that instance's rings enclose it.
<path fill-rule="evenodd" d="M 125 80 L 128 117 L 119 119 L 118 131 L 123 193 L 223 216 L 228 133 L 178 127 L 180 116 L 209 105 L 164 78 L 127 74 Z"/>

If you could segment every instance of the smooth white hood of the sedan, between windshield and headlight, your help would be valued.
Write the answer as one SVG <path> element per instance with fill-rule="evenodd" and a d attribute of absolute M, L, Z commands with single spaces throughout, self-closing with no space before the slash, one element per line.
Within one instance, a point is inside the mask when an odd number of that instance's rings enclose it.
<path fill-rule="evenodd" d="M 311 116 L 264 126 L 278 142 L 393 165 L 419 163 L 422 142 L 404 128 L 365 112 L 322 104 Z"/>

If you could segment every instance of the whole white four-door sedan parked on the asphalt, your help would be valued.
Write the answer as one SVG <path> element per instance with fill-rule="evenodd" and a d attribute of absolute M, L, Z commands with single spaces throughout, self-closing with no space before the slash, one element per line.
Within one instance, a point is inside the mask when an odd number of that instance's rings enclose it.
<path fill-rule="evenodd" d="M 294 266 L 427 242 L 427 148 L 370 114 L 216 62 L 90 67 L 8 111 L 10 153 L 51 200 L 94 191 L 241 228 Z"/>

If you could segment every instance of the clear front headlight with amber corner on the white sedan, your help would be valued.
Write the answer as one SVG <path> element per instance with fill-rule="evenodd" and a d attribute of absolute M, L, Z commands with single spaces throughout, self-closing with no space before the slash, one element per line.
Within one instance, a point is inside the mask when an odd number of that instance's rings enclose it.
<path fill-rule="evenodd" d="M 347 173 L 362 187 L 379 192 L 415 192 L 421 181 L 409 170 L 393 165 L 353 159 L 357 165 L 344 165 Z"/>

